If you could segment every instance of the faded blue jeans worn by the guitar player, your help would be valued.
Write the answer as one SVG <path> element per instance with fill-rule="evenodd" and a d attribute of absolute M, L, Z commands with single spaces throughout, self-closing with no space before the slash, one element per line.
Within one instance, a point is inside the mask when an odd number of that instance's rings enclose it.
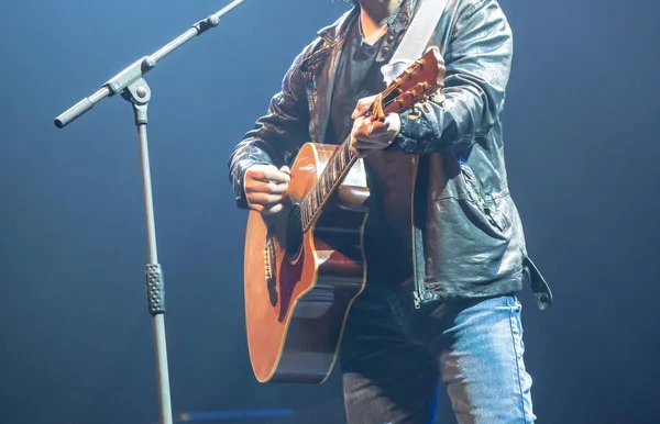
<path fill-rule="evenodd" d="M 440 381 L 460 424 L 534 423 L 514 295 L 425 305 L 413 284 L 367 289 L 340 364 L 349 424 L 436 422 Z"/>

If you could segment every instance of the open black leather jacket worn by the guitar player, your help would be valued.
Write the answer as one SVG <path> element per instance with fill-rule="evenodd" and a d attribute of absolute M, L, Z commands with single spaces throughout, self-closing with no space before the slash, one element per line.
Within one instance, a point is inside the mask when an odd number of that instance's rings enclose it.
<path fill-rule="evenodd" d="M 414 1 L 388 22 L 384 64 L 409 24 Z M 230 180 L 240 208 L 245 169 L 290 164 L 306 142 L 323 143 L 338 59 L 358 8 L 294 60 L 268 112 L 234 148 Z M 448 0 L 428 43 L 440 46 L 447 66 L 439 99 L 418 120 L 402 115 L 391 148 L 409 153 L 415 172 L 415 303 L 513 293 L 531 282 L 539 308 L 551 292 L 528 258 L 522 225 L 509 194 L 501 113 L 509 77 L 513 40 L 495 0 Z"/>

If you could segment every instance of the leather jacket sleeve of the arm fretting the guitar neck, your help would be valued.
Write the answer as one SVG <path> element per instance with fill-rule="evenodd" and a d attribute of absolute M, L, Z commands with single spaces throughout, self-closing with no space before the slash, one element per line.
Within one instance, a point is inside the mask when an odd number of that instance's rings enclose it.
<path fill-rule="evenodd" d="M 510 72 L 513 36 L 494 0 L 474 1 L 457 20 L 444 48 L 446 79 L 441 96 L 419 108 L 419 119 L 402 114 L 392 148 L 425 154 L 472 144 L 498 122 Z"/>

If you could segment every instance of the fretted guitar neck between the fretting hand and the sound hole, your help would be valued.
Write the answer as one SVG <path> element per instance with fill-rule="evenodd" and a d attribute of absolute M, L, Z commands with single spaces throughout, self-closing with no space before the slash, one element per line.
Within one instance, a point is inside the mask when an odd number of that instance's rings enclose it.
<path fill-rule="evenodd" d="M 358 160 L 351 149 L 351 136 L 339 146 L 334 155 L 328 160 L 326 169 L 321 172 L 319 180 L 307 196 L 300 201 L 300 219 L 304 231 L 308 231 L 321 210 L 328 203 L 330 196 L 340 186 L 351 167 Z"/>

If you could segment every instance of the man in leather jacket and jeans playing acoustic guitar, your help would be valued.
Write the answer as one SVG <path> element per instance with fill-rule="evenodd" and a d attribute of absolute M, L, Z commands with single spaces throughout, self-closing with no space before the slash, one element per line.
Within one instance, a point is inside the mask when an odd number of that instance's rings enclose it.
<path fill-rule="evenodd" d="M 416 111 L 367 113 L 381 68 L 422 0 L 360 0 L 294 60 L 266 115 L 234 148 L 240 208 L 283 213 L 307 143 L 339 144 L 365 166 L 369 272 L 339 354 L 349 423 L 430 423 L 440 384 L 459 423 L 532 423 L 520 303 L 529 259 L 508 190 L 501 114 L 512 32 L 496 0 L 448 0 L 429 46 L 441 96 Z"/>

